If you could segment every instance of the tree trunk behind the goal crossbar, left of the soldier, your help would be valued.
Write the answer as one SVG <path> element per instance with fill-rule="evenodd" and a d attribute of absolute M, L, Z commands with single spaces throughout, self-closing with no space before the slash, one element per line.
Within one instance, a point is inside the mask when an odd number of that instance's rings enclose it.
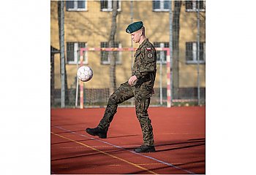
<path fill-rule="evenodd" d="M 117 16 L 117 3 L 113 1 L 112 24 L 110 30 L 109 47 L 114 47 L 115 34 L 116 34 L 116 16 Z M 110 94 L 116 90 L 116 54 L 113 51 L 109 52 L 110 58 Z"/>

